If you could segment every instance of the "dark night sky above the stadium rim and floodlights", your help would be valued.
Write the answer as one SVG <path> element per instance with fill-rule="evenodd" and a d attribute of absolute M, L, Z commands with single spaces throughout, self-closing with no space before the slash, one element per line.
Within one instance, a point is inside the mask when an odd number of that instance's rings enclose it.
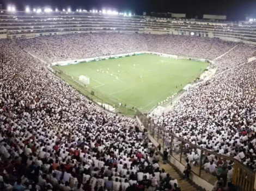
<path fill-rule="evenodd" d="M 228 20 L 245 20 L 246 15 L 256 17 L 255 0 L 0 0 L 5 8 L 7 4 L 15 4 L 24 10 L 26 5 L 44 7 L 50 5 L 52 9 L 67 8 L 72 10 L 115 8 L 119 11 L 131 10 L 137 15 L 143 11 L 186 13 L 188 18 L 203 14 L 227 15 Z"/>

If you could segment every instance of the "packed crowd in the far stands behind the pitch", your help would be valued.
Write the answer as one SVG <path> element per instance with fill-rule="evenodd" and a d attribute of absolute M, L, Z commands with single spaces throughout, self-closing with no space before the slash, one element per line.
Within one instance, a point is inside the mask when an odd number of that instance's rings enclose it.
<path fill-rule="evenodd" d="M 50 61 L 94 58 L 139 51 L 213 60 L 236 44 L 197 36 L 123 33 L 52 35 L 23 39 L 17 43 Z"/>

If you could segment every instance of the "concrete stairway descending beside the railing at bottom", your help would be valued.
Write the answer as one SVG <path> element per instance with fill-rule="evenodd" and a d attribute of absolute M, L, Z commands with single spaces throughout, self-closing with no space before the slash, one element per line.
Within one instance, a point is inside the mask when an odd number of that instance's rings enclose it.
<path fill-rule="evenodd" d="M 169 173 L 170 177 L 174 177 L 178 180 L 178 185 L 180 186 L 181 191 L 205 191 L 205 189 L 199 187 L 194 182 L 183 179 L 181 172 L 171 164 L 163 164 L 162 157 L 160 157 L 159 165 L 166 171 L 166 173 Z"/>

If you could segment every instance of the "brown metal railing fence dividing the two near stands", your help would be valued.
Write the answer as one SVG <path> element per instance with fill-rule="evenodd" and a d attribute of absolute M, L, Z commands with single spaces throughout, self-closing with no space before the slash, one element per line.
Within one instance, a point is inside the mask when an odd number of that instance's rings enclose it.
<path fill-rule="evenodd" d="M 240 191 L 253 191 L 255 173 L 240 161 L 203 149 L 185 141 L 181 137 L 177 137 L 172 132 L 167 131 L 163 126 L 158 126 L 153 123 L 139 110 L 136 111 L 136 116 L 141 120 L 144 128 L 148 130 L 149 135 L 153 137 L 163 149 L 168 148 L 170 155 L 184 166 L 190 163 L 191 171 L 197 176 L 213 185 L 217 181 L 217 177 L 222 177 L 224 186 L 227 182 L 233 182 Z M 190 155 L 191 152 L 198 154 L 198 157 L 187 162 L 187 155 Z M 211 160 L 214 160 L 218 165 L 214 171 L 209 170 L 206 166 L 206 163 Z M 233 169 L 233 177 L 227 176 L 228 166 Z"/>

